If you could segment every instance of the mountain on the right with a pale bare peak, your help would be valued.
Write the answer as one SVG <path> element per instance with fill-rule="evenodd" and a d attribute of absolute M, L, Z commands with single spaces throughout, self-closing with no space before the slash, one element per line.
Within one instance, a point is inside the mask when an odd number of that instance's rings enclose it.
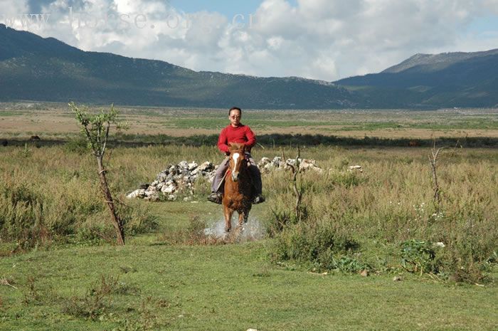
<path fill-rule="evenodd" d="M 334 83 L 379 107 L 498 107 L 498 49 L 416 54 L 381 73 Z"/>

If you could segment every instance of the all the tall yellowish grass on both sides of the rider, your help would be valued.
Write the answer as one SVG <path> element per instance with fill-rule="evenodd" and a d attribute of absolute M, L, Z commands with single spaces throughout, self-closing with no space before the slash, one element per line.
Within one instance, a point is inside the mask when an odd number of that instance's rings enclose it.
<path fill-rule="evenodd" d="M 294 152 L 289 147 L 285 150 L 287 157 Z M 263 174 L 268 199 L 260 208 L 267 209 L 265 222 L 275 238 L 273 257 L 307 261 L 317 268 L 332 268 L 339 258 L 347 257 L 364 259 L 375 267 L 369 249 L 378 247 L 370 243 L 386 243 L 392 253 L 411 240 L 442 242 L 445 248 L 438 249 L 435 258 L 440 273 L 458 271 L 460 278 L 479 279 L 498 247 L 496 152 L 445 150 L 438 164 L 441 206 L 433 204 L 428 152 L 329 146 L 301 149 L 302 157 L 316 159 L 324 169 L 298 177 L 304 189 L 303 224 L 292 216 L 295 197 L 290 173 Z M 282 155 L 282 149 L 253 150 L 255 159 L 277 155 Z M 212 146 L 116 147 L 106 165 L 109 182 L 124 200 L 124 194 L 152 182 L 168 164 L 183 159 L 217 164 L 223 155 Z M 352 164 L 361 164 L 364 171 L 347 171 Z M 1 241 L 29 248 L 54 240 L 112 240 L 95 160 L 81 146 L 4 147 L 0 170 Z M 207 194 L 208 186 L 206 181 L 198 182 L 196 194 Z M 129 234 L 154 228 L 148 204 L 126 204 L 120 212 Z"/>

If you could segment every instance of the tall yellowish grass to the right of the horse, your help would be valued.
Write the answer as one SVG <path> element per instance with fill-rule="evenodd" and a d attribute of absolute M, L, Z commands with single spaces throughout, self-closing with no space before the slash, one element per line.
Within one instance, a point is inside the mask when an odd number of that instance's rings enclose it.
<path fill-rule="evenodd" d="M 316 155 L 315 151 L 310 150 L 310 156 Z M 275 258 L 300 261 L 308 254 L 309 258 L 304 260 L 327 268 L 332 258 L 324 260 L 317 252 L 333 253 L 337 245 L 331 243 L 337 237 L 394 246 L 410 240 L 440 242 L 445 245 L 435 256 L 440 274 L 457 273 L 463 279 L 482 279 L 487 261 L 498 248 L 496 162 L 462 157 L 465 151 L 455 158 L 450 153 L 443 154 L 438 167 L 443 203 L 438 206 L 433 201 L 430 165 L 421 151 L 399 149 L 399 154 L 393 154 L 391 150 L 382 159 L 365 157 L 377 154 L 376 151 L 361 152 L 364 172 L 347 170 L 347 164 L 357 163 L 354 152 L 326 148 L 321 152 L 329 155 L 329 159 L 322 156 L 324 160 L 320 162 L 329 171 L 302 176 L 306 226 L 295 221 L 287 222 L 288 226 L 280 225 L 279 216 L 285 215 L 286 210 L 288 215 L 288 206 L 294 201 L 290 174 L 280 172 L 266 177 L 265 186 L 277 187 L 270 194 L 279 200 L 268 227 L 273 232 L 275 228 L 282 230 L 277 235 Z M 349 159 L 347 164 L 345 155 Z M 314 234 L 314 241 L 308 243 L 309 228 L 314 233 L 327 231 L 329 242 Z M 303 246 L 303 242 L 307 244 Z M 282 251 L 293 251 L 294 256 Z"/>

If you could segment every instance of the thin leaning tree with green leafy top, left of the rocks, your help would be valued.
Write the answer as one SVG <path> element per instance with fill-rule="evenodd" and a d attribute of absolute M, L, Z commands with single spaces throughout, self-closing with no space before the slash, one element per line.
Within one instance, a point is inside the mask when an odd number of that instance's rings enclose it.
<path fill-rule="evenodd" d="M 124 224 L 117 214 L 109 184 L 107 184 L 107 178 L 105 177 L 106 170 L 103 165 L 111 125 L 115 125 L 117 130 L 121 130 L 124 125 L 117 122 L 117 110 L 114 109 L 114 105 L 111 105 L 109 110 L 102 110 L 98 114 L 89 114 L 86 109 L 80 110 L 75 103 L 69 103 L 69 107 L 75 113 L 76 120 L 78 120 L 82 127 L 81 131 L 87 138 L 88 147 L 92 150 L 97 160 L 100 188 L 104 194 L 105 204 L 109 207 L 112 225 L 116 230 L 117 244 L 124 245 Z"/>

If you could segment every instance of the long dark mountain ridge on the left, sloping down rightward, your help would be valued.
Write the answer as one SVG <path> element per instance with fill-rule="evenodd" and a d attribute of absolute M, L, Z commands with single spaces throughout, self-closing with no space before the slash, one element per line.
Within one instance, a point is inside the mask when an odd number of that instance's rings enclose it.
<path fill-rule="evenodd" d="M 196 72 L 164 61 L 85 52 L 0 25 L 0 100 L 182 107 L 341 108 L 358 97 L 334 83 Z"/>

